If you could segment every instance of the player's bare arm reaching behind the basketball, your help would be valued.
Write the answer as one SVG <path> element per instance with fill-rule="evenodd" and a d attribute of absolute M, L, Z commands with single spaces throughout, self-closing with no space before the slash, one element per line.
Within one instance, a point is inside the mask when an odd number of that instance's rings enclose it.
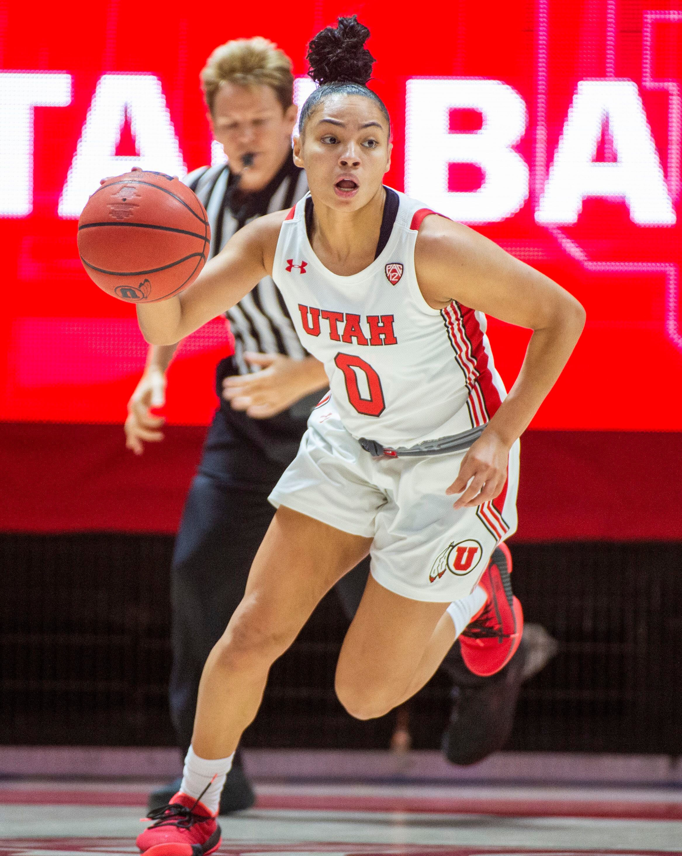
<path fill-rule="evenodd" d="M 272 273 L 277 239 L 286 211 L 259 217 L 235 232 L 182 294 L 157 303 L 138 303 L 138 323 L 151 345 L 175 345 L 226 312 Z"/>

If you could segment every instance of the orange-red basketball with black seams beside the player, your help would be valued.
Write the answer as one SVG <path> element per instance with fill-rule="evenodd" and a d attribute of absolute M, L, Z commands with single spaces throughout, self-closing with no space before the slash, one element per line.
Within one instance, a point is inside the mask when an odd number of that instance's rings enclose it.
<path fill-rule="evenodd" d="M 135 171 L 92 193 L 78 221 L 80 261 L 119 300 L 153 303 L 191 285 L 206 263 L 204 205 L 177 177 Z"/>

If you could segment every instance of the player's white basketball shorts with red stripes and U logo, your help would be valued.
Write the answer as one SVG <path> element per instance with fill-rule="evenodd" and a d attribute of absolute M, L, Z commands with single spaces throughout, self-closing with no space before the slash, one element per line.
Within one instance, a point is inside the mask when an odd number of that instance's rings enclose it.
<path fill-rule="evenodd" d="M 372 538 L 371 574 L 412 600 L 451 603 L 477 585 L 495 546 L 516 530 L 519 443 L 493 502 L 455 510 L 445 490 L 464 452 L 374 458 L 341 424 L 331 399 L 311 413 L 298 455 L 270 502 Z"/>

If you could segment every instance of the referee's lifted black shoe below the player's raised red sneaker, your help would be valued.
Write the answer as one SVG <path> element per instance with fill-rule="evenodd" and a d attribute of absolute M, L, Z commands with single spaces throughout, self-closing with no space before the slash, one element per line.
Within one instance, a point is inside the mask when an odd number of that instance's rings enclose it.
<path fill-rule="evenodd" d="M 464 663 L 443 662 L 454 673 L 453 709 L 442 739 L 442 752 L 452 764 L 477 764 L 507 743 L 527 655 L 528 645 L 521 639 L 504 669 L 486 678 L 463 674 Z"/>

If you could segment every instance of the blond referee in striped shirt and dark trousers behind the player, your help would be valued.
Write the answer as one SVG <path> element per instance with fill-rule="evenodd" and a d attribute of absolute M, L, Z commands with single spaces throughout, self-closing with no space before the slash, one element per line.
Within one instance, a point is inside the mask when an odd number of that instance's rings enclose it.
<path fill-rule="evenodd" d="M 211 257 L 255 217 L 294 205 L 307 192 L 294 165 L 296 121 L 292 63 L 266 39 L 239 39 L 213 51 L 201 73 L 208 119 L 228 164 L 203 167 L 185 180 L 211 222 Z M 268 495 L 299 448 L 306 421 L 325 389 L 321 363 L 306 354 L 270 277 L 228 311 L 234 356 L 216 369 L 220 396 L 175 540 L 171 569 L 170 710 L 182 757 L 192 740 L 199 678 L 206 657 L 240 603 L 253 556 L 275 509 Z M 166 370 L 177 346 L 151 346 L 145 372 L 128 402 L 126 445 L 137 455 L 163 439 Z M 337 584 L 349 620 L 357 609 L 369 560 Z M 501 748 L 511 729 L 526 646 L 492 678 L 471 675 L 459 644 L 443 668 L 454 681 L 454 712 L 444 748 L 471 764 Z M 180 786 L 150 795 L 165 805 Z M 239 753 L 222 792 L 221 813 L 252 805 Z"/>

